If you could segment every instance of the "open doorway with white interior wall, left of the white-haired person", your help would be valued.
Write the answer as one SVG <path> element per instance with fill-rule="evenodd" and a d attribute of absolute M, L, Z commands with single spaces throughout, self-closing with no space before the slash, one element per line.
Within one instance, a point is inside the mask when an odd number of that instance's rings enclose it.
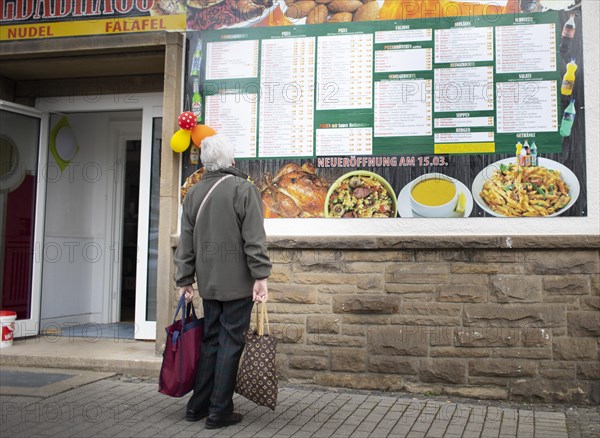
<path fill-rule="evenodd" d="M 133 338 L 142 111 L 55 113 L 41 328 Z M 123 330 L 116 323 L 127 321 Z"/>

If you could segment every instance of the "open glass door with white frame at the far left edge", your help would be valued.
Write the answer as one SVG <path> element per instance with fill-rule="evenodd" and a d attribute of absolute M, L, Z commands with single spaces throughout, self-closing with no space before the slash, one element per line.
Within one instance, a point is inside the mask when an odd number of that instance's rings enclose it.
<path fill-rule="evenodd" d="M 39 332 L 48 117 L 0 100 L 0 309 Z"/>

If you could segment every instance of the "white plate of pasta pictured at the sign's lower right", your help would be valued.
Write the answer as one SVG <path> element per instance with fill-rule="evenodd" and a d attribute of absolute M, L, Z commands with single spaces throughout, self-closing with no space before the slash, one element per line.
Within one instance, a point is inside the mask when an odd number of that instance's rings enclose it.
<path fill-rule="evenodd" d="M 473 180 L 475 202 L 497 217 L 552 217 L 566 212 L 579 197 L 579 180 L 571 169 L 539 158 L 523 167 L 515 158 L 496 161 Z"/>

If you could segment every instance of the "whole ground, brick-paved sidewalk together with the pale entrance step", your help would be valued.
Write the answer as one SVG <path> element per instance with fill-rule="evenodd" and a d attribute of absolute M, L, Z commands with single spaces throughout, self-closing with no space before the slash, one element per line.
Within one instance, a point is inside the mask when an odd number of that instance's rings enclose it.
<path fill-rule="evenodd" d="M 274 412 L 236 395 L 242 423 L 206 430 L 203 421 L 184 420 L 188 396 L 174 399 L 158 393 L 160 363 L 154 342 L 70 336 L 16 340 L 0 354 L 0 434 L 600 438 L 599 406 L 427 397 L 288 382 L 280 387 Z"/>

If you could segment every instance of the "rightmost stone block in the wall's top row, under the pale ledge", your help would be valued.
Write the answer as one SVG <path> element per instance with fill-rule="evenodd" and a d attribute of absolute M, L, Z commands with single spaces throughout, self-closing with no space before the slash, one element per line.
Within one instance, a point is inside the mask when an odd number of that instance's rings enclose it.
<path fill-rule="evenodd" d="M 600 273 L 598 251 L 536 251 L 527 255 L 525 265 L 532 274 L 573 275 Z"/>

